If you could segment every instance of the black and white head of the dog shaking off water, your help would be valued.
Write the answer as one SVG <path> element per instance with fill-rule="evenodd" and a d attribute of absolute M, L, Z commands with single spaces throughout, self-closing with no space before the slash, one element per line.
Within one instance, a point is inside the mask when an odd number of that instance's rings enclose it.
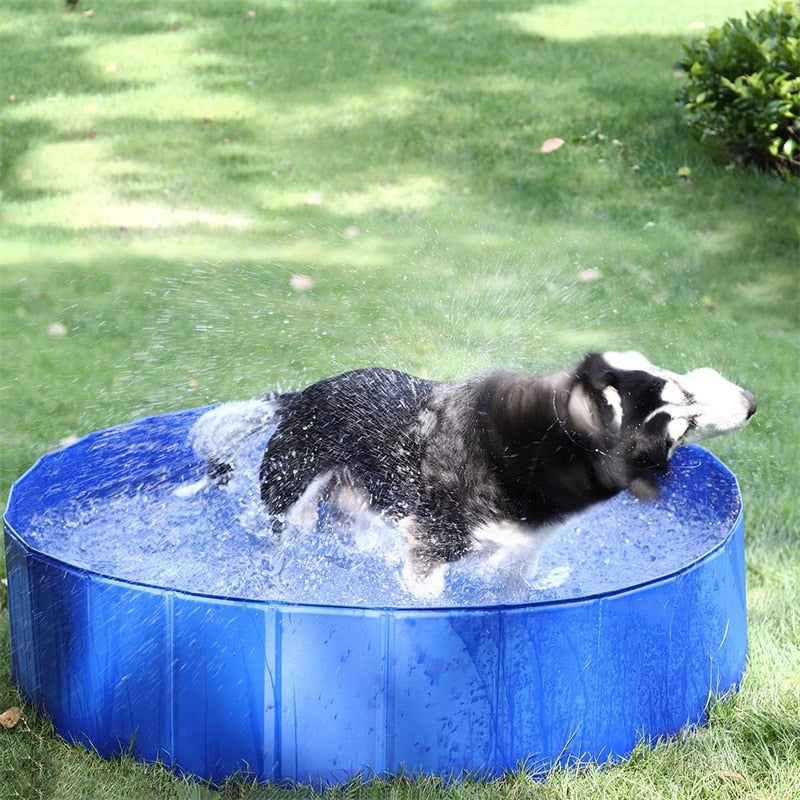
<path fill-rule="evenodd" d="M 658 493 L 654 473 L 675 449 L 744 427 L 756 400 L 713 369 L 677 375 L 639 353 L 590 353 L 567 401 L 571 426 L 596 445 L 596 469 L 610 487 Z"/>

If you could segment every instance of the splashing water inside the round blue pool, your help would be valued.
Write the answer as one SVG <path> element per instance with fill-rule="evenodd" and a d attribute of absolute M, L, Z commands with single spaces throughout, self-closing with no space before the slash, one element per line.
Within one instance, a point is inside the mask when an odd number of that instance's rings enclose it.
<path fill-rule="evenodd" d="M 184 498 L 175 493 L 186 483 L 177 470 L 174 480 L 149 482 L 134 473 L 113 491 L 51 502 L 31 516 L 24 538 L 83 569 L 188 592 L 322 605 L 485 606 L 606 594 L 668 575 L 720 543 L 737 511 L 731 487 L 718 475 L 712 480 L 702 452 L 683 448 L 660 500 L 623 493 L 531 533 L 531 546 L 505 559 L 490 548 L 471 553 L 448 567 L 442 594 L 421 603 L 402 579 L 402 536 L 376 514 L 343 520 L 322 508 L 311 531 L 271 532 L 258 496 L 264 444 L 253 444 L 224 489 Z M 115 463 L 125 460 L 116 454 Z"/>

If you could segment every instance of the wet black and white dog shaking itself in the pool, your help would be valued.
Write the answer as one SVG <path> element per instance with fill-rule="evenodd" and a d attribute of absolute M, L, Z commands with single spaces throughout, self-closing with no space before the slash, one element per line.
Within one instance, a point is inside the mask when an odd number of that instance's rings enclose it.
<path fill-rule="evenodd" d="M 354 370 L 219 406 L 193 436 L 223 484 L 251 434 L 277 419 L 260 468 L 269 513 L 302 524 L 323 499 L 368 506 L 400 524 L 409 581 L 435 594 L 441 567 L 481 541 L 530 538 L 623 489 L 656 496 L 677 447 L 737 430 L 755 410 L 750 392 L 712 369 L 677 375 L 609 352 L 544 376 Z"/>

